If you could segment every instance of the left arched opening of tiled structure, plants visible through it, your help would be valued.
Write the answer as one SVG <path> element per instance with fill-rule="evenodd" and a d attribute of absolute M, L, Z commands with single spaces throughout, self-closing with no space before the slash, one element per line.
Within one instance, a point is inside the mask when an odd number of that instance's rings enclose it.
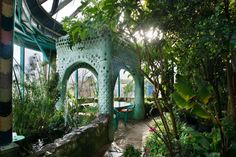
<path fill-rule="evenodd" d="M 98 114 L 98 88 L 94 73 L 78 68 L 67 80 L 65 109 L 67 124 L 78 128 L 89 124 Z"/>

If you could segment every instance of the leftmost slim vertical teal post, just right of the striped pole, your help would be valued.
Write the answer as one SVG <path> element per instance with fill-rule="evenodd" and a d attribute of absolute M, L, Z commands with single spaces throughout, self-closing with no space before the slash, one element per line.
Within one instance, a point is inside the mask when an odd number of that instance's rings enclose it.
<path fill-rule="evenodd" d="M 25 95 L 25 48 L 20 47 L 20 92 L 21 92 L 21 97 L 24 100 L 24 95 Z"/>

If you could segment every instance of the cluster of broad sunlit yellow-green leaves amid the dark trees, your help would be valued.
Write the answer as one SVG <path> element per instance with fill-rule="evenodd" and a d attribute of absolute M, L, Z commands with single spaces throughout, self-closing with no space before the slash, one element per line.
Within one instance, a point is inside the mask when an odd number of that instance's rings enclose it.
<path fill-rule="evenodd" d="M 203 119 L 211 118 L 209 111 L 210 98 L 213 97 L 211 86 L 199 78 L 192 83 L 183 76 L 177 75 L 174 87 L 175 92 L 171 97 L 180 109 L 188 110 Z"/>

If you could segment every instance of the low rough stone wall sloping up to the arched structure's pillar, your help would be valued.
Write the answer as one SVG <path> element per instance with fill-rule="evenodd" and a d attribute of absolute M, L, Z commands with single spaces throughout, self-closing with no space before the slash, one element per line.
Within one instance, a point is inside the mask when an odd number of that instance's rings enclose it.
<path fill-rule="evenodd" d="M 45 145 L 31 156 L 102 157 L 111 142 L 108 138 L 108 121 L 108 116 L 100 115 L 91 124 Z"/>

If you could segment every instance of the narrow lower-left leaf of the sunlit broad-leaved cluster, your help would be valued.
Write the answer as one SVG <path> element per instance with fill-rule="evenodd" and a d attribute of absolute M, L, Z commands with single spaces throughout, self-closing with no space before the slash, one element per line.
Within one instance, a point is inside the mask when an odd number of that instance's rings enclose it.
<path fill-rule="evenodd" d="M 184 98 L 182 98 L 177 92 L 174 92 L 172 95 L 176 105 L 181 109 L 190 109 L 194 106 L 193 103 L 188 103 Z"/>

